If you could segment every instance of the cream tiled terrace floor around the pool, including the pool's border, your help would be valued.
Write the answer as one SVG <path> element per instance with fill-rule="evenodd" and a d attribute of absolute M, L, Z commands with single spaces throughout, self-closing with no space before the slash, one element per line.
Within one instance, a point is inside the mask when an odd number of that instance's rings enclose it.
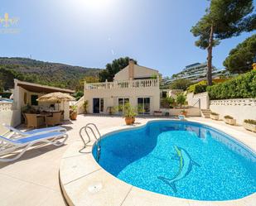
<path fill-rule="evenodd" d="M 137 118 L 138 124 L 132 127 L 142 126 L 151 119 Z M 256 133 L 201 117 L 189 120 L 217 127 L 256 151 Z M 60 193 L 59 169 L 65 196 L 75 205 L 256 205 L 256 194 L 234 201 L 204 203 L 171 198 L 126 184 L 101 169 L 90 153 L 79 152 L 83 144 L 78 133 L 88 122 L 97 124 L 101 133 L 128 127 L 122 117 L 79 115 L 77 121 L 65 125 L 69 129 L 65 146 L 41 146 L 27 151 L 19 160 L 0 163 L 0 205 L 65 205 Z"/>

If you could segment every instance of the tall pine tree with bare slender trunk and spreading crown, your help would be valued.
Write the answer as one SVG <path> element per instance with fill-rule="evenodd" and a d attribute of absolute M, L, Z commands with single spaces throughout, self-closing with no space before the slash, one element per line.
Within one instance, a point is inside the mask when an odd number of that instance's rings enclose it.
<path fill-rule="evenodd" d="M 198 39 L 196 46 L 207 49 L 207 81 L 212 84 L 212 48 L 221 40 L 239 36 L 241 32 L 256 28 L 256 14 L 253 0 L 211 0 L 205 15 L 192 26 L 191 32 Z"/>

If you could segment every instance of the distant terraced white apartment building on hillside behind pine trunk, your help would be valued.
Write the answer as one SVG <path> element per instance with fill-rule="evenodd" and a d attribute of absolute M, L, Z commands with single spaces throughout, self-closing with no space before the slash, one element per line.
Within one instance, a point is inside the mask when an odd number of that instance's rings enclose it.
<path fill-rule="evenodd" d="M 171 84 L 176 79 L 189 79 L 191 82 L 199 82 L 200 80 L 206 79 L 207 73 L 207 63 L 195 63 L 192 65 L 187 65 L 185 69 L 182 69 L 181 72 L 173 74 L 171 78 L 163 78 L 162 86 Z M 216 69 L 215 66 L 212 67 L 212 76 L 213 78 L 218 78 L 220 75 L 227 75 L 228 71 L 225 69 Z"/>

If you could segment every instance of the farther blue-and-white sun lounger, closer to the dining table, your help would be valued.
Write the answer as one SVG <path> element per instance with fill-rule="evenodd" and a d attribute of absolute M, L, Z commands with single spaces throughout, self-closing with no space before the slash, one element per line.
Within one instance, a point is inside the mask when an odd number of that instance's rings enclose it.
<path fill-rule="evenodd" d="M 48 132 L 66 132 L 66 129 L 64 127 L 46 127 L 46 128 L 41 128 L 41 129 L 34 129 L 34 130 L 30 130 L 27 132 L 22 132 L 14 127 L 11 127 L 7 124 L 2 124 L 4 127 L 7 127 L 10 131 L 15 132 L 21 136 L 31 136 L 31 135 L 36 135 L 36 134 L 44 134 L 44 133 L 48 133 Z"/>

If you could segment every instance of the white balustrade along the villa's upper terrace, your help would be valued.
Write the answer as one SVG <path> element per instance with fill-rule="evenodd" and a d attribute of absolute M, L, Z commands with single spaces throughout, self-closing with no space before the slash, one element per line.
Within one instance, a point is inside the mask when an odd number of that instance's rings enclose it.
<path fill-rule="evenodd" d="M 143 80 L 115 81 L 115 82 L 85 84 L 86 90 L 150 88 L 150 87 L 159 87 L 159 80 L 158 79 L 143 79 Z"/>

